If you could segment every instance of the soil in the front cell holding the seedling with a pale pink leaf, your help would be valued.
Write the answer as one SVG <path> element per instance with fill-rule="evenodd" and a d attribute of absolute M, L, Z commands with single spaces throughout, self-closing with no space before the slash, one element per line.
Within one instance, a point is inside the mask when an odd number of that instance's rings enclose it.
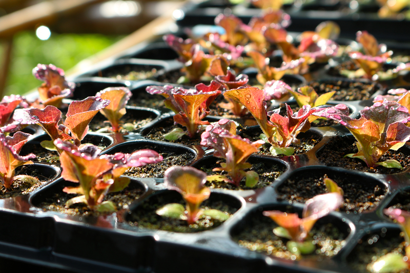
<path fill-rule="evenodd" d="M 240 230 L 240 233 L 233 236 L 233 240 L 239 246 L 249 250 L 289 260 L 314 259 L 321 261 L 335 256 L 345 245 L 346 235 L 340 232 L 336 225 L 332 223 L 319 224 L 317 222 L 308 236 L 313 240 L 316 251 L 309 255 L 297 257 L 290 253 L 286 247 L 289 240 L 277 237 L 272 232 L 277 226 L 271 218 L 258 212 L 252 218 L 245 220 L 244 227 Z"/>

